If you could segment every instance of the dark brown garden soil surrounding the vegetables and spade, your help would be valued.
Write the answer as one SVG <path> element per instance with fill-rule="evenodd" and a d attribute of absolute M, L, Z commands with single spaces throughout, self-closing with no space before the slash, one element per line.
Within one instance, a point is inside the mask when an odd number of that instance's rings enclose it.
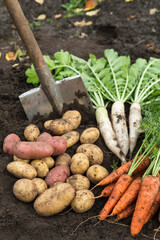
<path fill-rule="evenodd" d="M 38 44 L 45 55 L 53 57 L 56 51 L 67 50 L 76 56 L 88 59 L 90 53 L 97 57 L 103 57 L 107 48 L 113 48 L 119 55 L 129 55 L 134 62 L 137 58 L 158 57 L 160 55 L 160 1 L 157 0 L 106 0 L 98 7 L 97 15 L 75 16 L 65 18 L 65 11 L 61 4 L 67 1 L 45 0 L 43 5 L 35 1 L 20 1 L 22 9 L 30 23 L 35 24 L 40 14 L 46 14 L 47 19 L 39 26 L 35 26 L 33 33 Z M 151 14 L 150 10 L 156 10 Z M 61 18 L 55 18 L 56 14 L 62 14 Z M 15 46 L 24 46 L 19 38 L 12 20 L 7 13 L 3 2 L 0 2 L 0 240 L 30 240 L 30 239 L 66 239 L 66 240 L 147 240 L 153 239 L 155 229 L 159 223 L 157 215 L 143 227 L 138 236 L 131 236 L 129 225 L 131 219 L 120 222 L 103 221 L 98 225 L 96 216 L 105 203 L 105 199 L 97 199 L 93 208 L 83 214 L 76 214 L 72 210 L 48 218 L 40 217 L 33 209 L 33 203 L 22 203 L 18 201 L 13 193 L 13 184 L 16 178 L 6 170 L 7 164 L 12 158 L 3 153 L 3 140 L 7 134 L 16 133 L 22 140 L 24 128 L 30 123 L 24 113 L 18 96 L 31 89 L 33 86 L 26 83 L 25 70 L 30 65 L 29 58 L 22 61 L 6 61 L 5 54 L 15 51 Z M 76 27 L 77 21 L 92 21 L 90 26 Z M 17 64 L 17 65 L 15 65 Z M 128 116 L 126 105 L 126 114 Z M 83 113 L 83 109 L 81 110 Z M 55 116 L 57 117 L 57 116 Z M 78 131 L 81 133 L 85 128 L 96 126 L 95 119 L 83 121 Z M 34 121 L 44 131 L 45 119 Z M 139 144 L 142 138 L 139 138 Z M 113 160 L 118 160 L 105 146 L 102 138 L 96 144 L 104 153 L 103 166 L 109 172 L 112 171 Z M 72 156 L 79 143 L 67 150 Z M 136 150 L 135 150 L 136 152 Z M 134 153 L 135 154 L 135 153 Z M 120 163 L 119 163 L 120 164 Z M 95 194 L 101 188 L 95 189 Z M 68 210 L 68 209 L 67 209 Z M 113 219 L 111 219 L 113 220 Z M 79 228 L 77 228 L 77 226 Z M 77 229 L 76 229 L 77 228 Z M 76 231 L 74 231 L 76 229 Z M 157 233 L 156 239 L 160 239 Z"/>

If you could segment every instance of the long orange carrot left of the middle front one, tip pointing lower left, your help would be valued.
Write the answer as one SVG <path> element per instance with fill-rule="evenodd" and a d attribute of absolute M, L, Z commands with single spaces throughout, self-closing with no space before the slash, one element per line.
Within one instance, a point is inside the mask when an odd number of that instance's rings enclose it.
<path fill-rule="evenodd" d="M 120 176 L 113 188 L 110 197 L 108 198 L 108 201 L 100 212 L 99 220 L 104 220 L 110 214 L 113 207 L 118 202 L 122 194 L 126 191 L 131 182 L 132 177 L 130 177 L 129 175 L 123 174 L 122 176 Z"/>

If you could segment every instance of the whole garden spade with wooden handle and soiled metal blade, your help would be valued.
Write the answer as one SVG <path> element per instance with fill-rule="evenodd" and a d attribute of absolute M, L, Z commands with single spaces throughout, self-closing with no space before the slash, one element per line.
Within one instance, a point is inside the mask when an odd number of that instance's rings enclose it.
<path fill-rule="evenodd" d="M 37 115 L 47 117 L 52 112 L 61 115 L 71 105 L 77 110 L 93 112 L 92 103 L 81 77 L 75 76 L 55 81 L 18 0 L 4 0 L 4 3 L 40 81 L 39 87 L 19 96 L 28 119 L 31 121 Z"/>

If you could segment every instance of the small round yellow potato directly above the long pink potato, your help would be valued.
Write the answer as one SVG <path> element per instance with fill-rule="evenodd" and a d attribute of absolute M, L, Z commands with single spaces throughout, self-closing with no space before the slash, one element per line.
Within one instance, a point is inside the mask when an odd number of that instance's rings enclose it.
<path fill-rule="evenodd" d="M 24 137 L 27 141 L 35 142 L 39 135 L 40 130 L 34 124 L 28 125 L 24 130 Z"/>

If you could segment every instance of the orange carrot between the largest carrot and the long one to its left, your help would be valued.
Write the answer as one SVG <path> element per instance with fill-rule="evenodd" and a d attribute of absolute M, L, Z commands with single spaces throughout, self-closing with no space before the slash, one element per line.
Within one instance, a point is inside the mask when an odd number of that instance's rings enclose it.
<path fill-rule="evenodd" d="M 131 203 L 134 202 L 139 193 L 141 182 L 142 182 L 141 178 L 136 178 L 133 180 L 133 182 L 130 184 L 130 186 L 127 188 L 125 193 L 122 195 L 122 197 L 119 199 L 119 201 L 113 208 L 111 215 L 118 214 L 119 212 L 121 212 Z"/>

